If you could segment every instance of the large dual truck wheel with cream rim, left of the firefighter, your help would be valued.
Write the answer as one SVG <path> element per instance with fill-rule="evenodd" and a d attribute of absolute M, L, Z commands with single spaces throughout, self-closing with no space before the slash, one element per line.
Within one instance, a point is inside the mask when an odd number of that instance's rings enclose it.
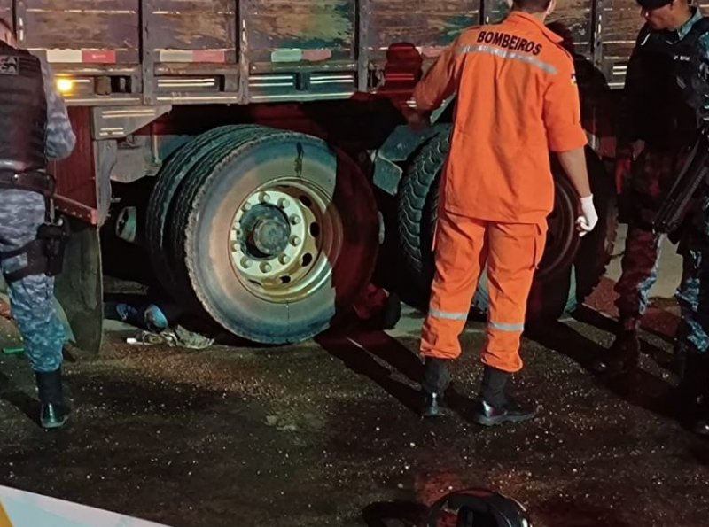
<path fill-rule="evenodd" d="M 300 342 L 330 328 L 377 259 L 370 182 L 313 136 L 249 127 L 217 141 L 198 150 L 170 207 L 175 295 L 253 342 Z"/>

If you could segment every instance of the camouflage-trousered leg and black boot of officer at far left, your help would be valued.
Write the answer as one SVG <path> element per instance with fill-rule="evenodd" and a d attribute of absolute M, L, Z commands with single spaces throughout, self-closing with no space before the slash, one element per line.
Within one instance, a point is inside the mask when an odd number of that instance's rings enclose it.
<path fill-rule="evenodd" d="M 31 242 L 43 221 L 42 196 L 22 190 L 0 190 L 0 252 L 17 251 Z M 53 278 L 39 273 L 11 279 L 13 273 L 27 265 L 25 254 L 2 260 L 2 270 L 9 282 L 12 317 L 35 371 L 42 403 L 40 422 L 45 428 L 57 428 L 68 418 L 61 381 L 65 332 L 54 305 Z"/>

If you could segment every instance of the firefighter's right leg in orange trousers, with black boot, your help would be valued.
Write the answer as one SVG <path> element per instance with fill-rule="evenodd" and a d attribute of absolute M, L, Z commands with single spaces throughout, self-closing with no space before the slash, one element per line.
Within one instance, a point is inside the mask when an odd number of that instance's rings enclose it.
<path fill-rule="evenodd" d="M 536 411 L 505 393 L 511 374 L 522 368 L 519 344 L 525 328 L 526 304 L 534 272 L 546 243 L 547 225 L 491 223 L 487 239 L 487 282 L 490 307 L 484 366 L 475 421 L 494 425 L 520 422 Z"/>

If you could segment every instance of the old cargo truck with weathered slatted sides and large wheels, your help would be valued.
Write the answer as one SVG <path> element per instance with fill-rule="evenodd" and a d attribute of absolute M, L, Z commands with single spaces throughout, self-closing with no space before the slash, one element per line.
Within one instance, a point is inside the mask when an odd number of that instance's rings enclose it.
<path fill-rule="evenodd" d="M 138 244 L 191 313 L 266 345 L 347 316 L 387 241 L 425 298 L 455 97 L 419 132 L 401 107 L 457 35 L 507 12 L 495 0 L 0 0 L 19 45 L 50 63 L 77 136 L 51 163 L 72 226 L 57 295 L 77 345 L 100 349 L 104 269 L 121 244 Z M 573 311 L 610 259 L 604 122 L 643 20 L 633 0 L 568 0 L 549 22 L 577 62 L 601 220 L 574 233 L 577 199 L 555 163 L 533 321 Z M 137 188 L 144 199 L 126 205 Z M 483 275 L 471 307 L 486 305 Z"/>

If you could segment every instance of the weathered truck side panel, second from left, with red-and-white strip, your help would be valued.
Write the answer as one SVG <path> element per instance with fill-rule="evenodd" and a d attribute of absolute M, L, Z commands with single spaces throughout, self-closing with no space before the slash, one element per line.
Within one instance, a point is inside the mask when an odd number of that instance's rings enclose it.
<path fill-rule="evenodd" d="M 237 61 L 235 0 L 152 0 L 148 46 L 156 62 Z"/>

